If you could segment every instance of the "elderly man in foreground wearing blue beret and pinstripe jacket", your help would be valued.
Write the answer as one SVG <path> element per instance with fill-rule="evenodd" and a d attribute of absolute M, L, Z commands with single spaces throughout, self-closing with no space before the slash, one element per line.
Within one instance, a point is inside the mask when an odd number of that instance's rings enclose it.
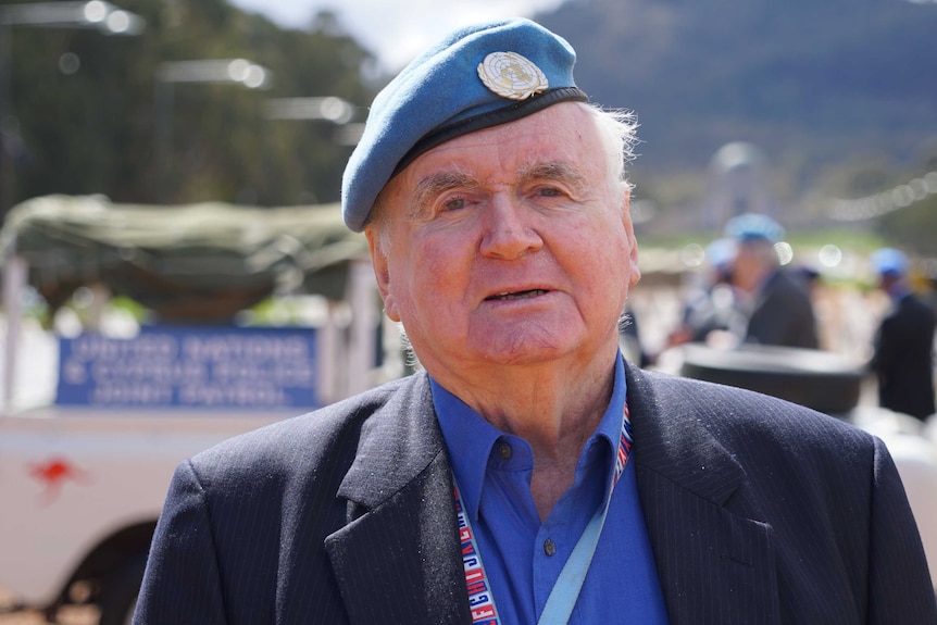
<path fill-rule="evenodd" d="M 143 624 L 937 623 L 878 439 L 642 371 L 630 114 L 527 20 L 375 99 L 345 172 L 421 370 L 177 470 Z"/>

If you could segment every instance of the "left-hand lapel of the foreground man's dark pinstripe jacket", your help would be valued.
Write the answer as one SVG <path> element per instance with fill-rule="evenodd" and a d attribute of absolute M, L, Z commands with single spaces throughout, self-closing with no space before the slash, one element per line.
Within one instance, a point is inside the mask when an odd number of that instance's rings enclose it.
<path fill-rule="evenodd" d="M 350 523 L 325 542 L 352 624 L 471 623 L 446 446 L 412 377 L 366 422 L 338 491 Z"/>

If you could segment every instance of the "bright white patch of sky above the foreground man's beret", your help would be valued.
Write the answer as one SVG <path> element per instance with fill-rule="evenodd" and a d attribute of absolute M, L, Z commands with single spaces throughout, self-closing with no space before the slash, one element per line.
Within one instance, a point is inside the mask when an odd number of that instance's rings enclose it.
<path fill-rule="evenodd" d="M 229 0 L 289 28 L 304 28 L 320 10 L 396 72 L 445 33 L 475 22 L 549 11 L 563 0 Z"/>

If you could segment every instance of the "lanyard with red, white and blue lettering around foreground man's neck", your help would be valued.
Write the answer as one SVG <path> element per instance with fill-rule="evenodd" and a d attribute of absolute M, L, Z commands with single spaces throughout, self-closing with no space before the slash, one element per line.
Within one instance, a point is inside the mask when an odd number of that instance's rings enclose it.
<path fill-rule="evenodd" d="M 617 453 L 615 454 L 615 473 L 612 478 L 612 488 L 609 490 L 609 497 L 605 498 L 605 501 L 599 507 L 592 518 L 589 520 L 586 529 L 583 530 L 583 535 L 573 548 L 569 560 L 566 560 L 566 564 L 563 565 L 563 570 L 560 572 L 559 577 L 557 577 L 552 590 L 550 590 L 550 596 L 547 598 L 544 611 L 540 613 L 538 625 L 565 625 L 570 621 L 570 615 L 576 605 L 583 583 L 586 580 L 586 573 L 589 571 L 589 565 L 599 545 L 599 537 L 602 534 L 602 527 L 609 513 L 612 492 L 614 492 L 619 478 L 621 478 L 625 471 L 630 451 L 632 423 L 628 418 L 628 405 L 625 403 L 622 414 L 622 437 L 619 441 Z M 488 576 L 485 574 L 482 554 L 478 552 L 478 542 L 469 523 L 469 514 L 462 504 L 459 486 L 454 484 L 454 476 L 452 479 L 455 512 L 459 518 L 459 540 L 462 547 L 462 565 L 465 572 L 465 586 L 469 589 L 469 608 L 472 612 L 472 623 L 476 625 L 501 625 L 501 618 L 498 615 L 495 597 L 491 592 L 491 585 Z"/>

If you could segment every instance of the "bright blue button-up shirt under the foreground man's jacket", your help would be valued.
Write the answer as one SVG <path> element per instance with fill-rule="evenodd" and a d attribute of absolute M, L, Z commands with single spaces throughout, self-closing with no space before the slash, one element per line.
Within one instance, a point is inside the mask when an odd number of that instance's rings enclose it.
<path fill-rule="evenodd" d="M 575 482 L 542 523 L 530 495 L 529 443 L 497 429 L 435 380 L 432 388 L 501 623 L 536 623 L 586 524 L 612 489 L 626 396 L 622 357 L 611 402 L 586 441 Z M 570 623 L 667 623 L 633 462 L 614 487 Z"/>

